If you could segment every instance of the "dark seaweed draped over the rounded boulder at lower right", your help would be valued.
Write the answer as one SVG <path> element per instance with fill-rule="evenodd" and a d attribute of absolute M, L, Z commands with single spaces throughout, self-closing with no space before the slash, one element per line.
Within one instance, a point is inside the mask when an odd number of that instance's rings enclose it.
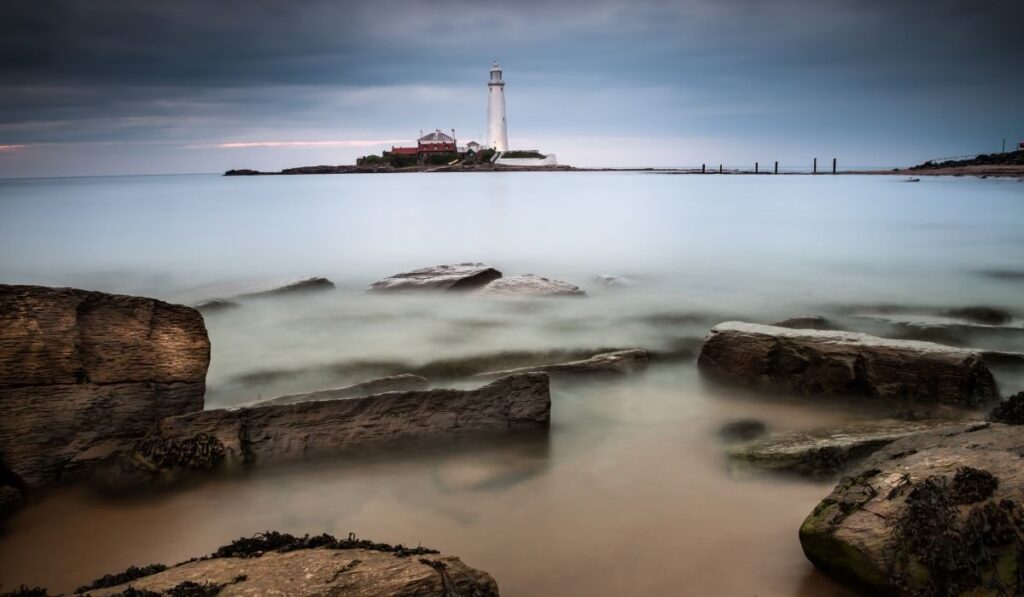
<path fill-rule="evenodd" d="M 1015 587 L 1004 585 L 989 572 L 994 570 L 1002 549 L 1015 550 L 1017 562 L 1024 562 L 1021 508 L 1012 500 L 989 502 L 972 509 L 958 524 L 963 496 L 957 492 L 970 486 L 969 495 L 974 497 L 995 480 L 988 479 L 991 475 L 986 471 L 965 469 L 957 471 L 963 485 L 959 489 L 954 488 L 955 480 L 950 484 L 944 477 L 932 476 L 914 484 L 907 494 L 906 508 L 893 529 L 897 546 L 893 580 L 904 592 L 928 597 L 959 595 L 983 586 L 995 594 L 1020 595 L 1024 591 L 1020 570 Z M 926 578 L 918 574 L 911 582 L 912 561 L 927 568 Z"/>

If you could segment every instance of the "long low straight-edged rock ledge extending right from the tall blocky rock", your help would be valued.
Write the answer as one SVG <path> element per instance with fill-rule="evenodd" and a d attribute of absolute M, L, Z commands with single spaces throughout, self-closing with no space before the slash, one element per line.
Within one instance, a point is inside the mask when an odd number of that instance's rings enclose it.
<path fill-rule="evenodd" d="M 473 390 L 388 392 L 169 417 L 160 421 L 154 436 L 147 438 L 145 453 L 136 451 L 133 461 L 159 472 L 168 468 L 159 462 L 162 454 L 173 452 L 186 458 L 171 461 L 172 467 L 231 468 L 397 442 L 436 443 L 547 428 L 550 413 L 548 376 L 512 375 Z M 197 440 L 201 445 L 194 447 Z M 167 450 L 161 451 L 160 442 Z M 155 460 L 157 466 L 147 466 Z M 199 466 L 191 460 L 198 460 Z"/>

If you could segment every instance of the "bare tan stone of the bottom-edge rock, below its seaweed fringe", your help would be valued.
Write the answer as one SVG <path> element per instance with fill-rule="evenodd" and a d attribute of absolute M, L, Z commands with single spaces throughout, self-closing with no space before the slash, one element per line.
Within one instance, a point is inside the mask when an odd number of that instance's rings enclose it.
<path fill-rule="evenodd" d="M 220 597 L 498 596 L 498 584 L 490 574 L 467 566 L 455 556 L 398 556 L 367 549 L 327 548 L 183 563 L 130 583 L 92 590 L 86 595 L 121 595 L 129 587 L 136 591 L 172 594 L 172 589 L 186 582 L 221 586 L 216 593 Z"/>

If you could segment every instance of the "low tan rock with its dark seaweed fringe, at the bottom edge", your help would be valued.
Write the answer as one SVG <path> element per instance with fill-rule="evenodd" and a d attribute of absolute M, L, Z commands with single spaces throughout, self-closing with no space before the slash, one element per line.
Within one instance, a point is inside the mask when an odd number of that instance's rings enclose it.
<path fill-rule="evenodd" d="M 490 574 L 467 566 L 455 556 L 352 538 L 339 541 L 328 535 L 295 538 L 267 532 L 238 540 L 207 558 L 160 568 L 163 566 L 139 570 L 154 573 L 117 585 L 100 580 L 94 585 L 102 587 L 82 589 L 94 597 L 144 595 L 145 591 L 221 597 L 498 596 L 498 584 Z"/>

